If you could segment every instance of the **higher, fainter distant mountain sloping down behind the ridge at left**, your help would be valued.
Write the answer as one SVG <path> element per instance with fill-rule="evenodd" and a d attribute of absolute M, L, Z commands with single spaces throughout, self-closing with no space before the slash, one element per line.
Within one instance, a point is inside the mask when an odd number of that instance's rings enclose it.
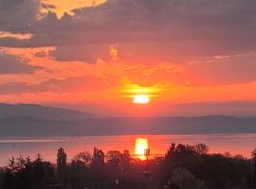
<path fill-rule="evenodd" d="M 70 111 L 60 108 L 45 107 L 34 104 L 9 105 L 0 104 L 0 117 L 30 116 L 50 120 L 75 120 L 94 117 L 93 113 Z"/>

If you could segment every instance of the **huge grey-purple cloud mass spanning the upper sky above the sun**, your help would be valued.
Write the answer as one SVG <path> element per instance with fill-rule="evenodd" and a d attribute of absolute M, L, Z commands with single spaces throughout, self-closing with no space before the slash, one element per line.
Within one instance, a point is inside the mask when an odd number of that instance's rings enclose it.
<path fill-rule="evenodd" d="M 29 39 L 1 38 L 0 46 L 55 46 L 48 54 L 55 60 L 92 64 L 113 61 L 109 52 L 115 44 L 117 62 L 180 64 L 185 71 L 168 77 L 172 81 L 205 85 L 256 79 L 256 57 L 236 57 L 255 50 L 255 0 L 108 0 L 62 18 L 41 13 L 42 7 L 36 0 L 0 0 L 0 30 L 31 33 Z"/>

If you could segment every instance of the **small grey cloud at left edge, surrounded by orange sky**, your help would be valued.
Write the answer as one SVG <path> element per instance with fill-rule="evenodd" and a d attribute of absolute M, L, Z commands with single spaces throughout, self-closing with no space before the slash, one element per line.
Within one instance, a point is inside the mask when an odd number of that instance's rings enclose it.
<path fill-rule="evenodd" d="M 37 69 L 42 67 L 29 65 L 28 60 L 0 51 L 0 75 L 33 73 Z"/>

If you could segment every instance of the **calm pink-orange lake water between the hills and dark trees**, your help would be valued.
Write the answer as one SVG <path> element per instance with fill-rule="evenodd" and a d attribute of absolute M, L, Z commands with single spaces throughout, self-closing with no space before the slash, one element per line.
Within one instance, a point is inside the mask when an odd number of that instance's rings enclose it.
<path fill-rule="evenodd" d="M 58 147 L 64 147 L 68 160 L 81 151 L 92 152 L 97 146 L 105 152 L 110 149 L 128 149 L 134 153 L 136 138 L 147 138 L 153 154 L 163 154 L 171 143 L 210 146 L 210 153 L 242 154 L 247 158 L 256 147 L 255 134 L 208 134 L 208 135 L 150 135 L 150 136 L 84 136 L 47 138 L 0 138 L 0 166 L 6 165 L 11 156 L 30 156 L 41 153 L 45 160 L 56 161 Z"/>

